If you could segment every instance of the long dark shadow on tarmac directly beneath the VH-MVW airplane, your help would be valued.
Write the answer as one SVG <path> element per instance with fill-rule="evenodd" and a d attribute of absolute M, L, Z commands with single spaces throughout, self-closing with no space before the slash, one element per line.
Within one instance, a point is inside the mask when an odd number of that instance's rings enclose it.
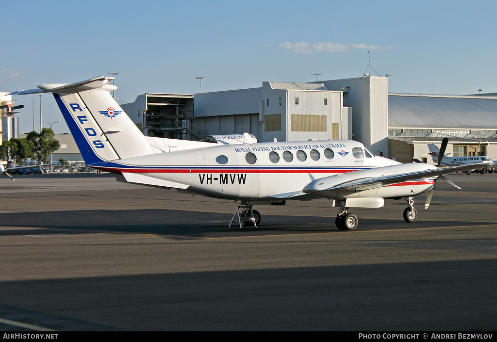
<path fill-rule="evenodd" d="M 315 232 L 337 232 L 334 217 L 263 215 L 257 228 L 246 226 L 240 229 L 235 222 L 228 229 L 231 214 L 183 211 L 171 209 L 141 210 L 76 210 L 1 214 L 4 227 L 42 228 L 43 234 L 88 234 L 91 232 L 121 232 L 167 235 L 169 237 L 205 238 L 219 234 L 236 236 L 247 234 L 303 234 Z M 418 220 L 407 224 L 402 219 L 367 219 L 359 216 L 358 231 L 398 230 L 432 227 L 457 227 L 488 225 L 488 222 L 475 221 L 432 221 Z M 63 231 L 63 232 L 61 232 Z M 41 232 L 40 232 L 41 233 Z M 0 230 L 2 235 L 33 235 L 33 230 Z"/>

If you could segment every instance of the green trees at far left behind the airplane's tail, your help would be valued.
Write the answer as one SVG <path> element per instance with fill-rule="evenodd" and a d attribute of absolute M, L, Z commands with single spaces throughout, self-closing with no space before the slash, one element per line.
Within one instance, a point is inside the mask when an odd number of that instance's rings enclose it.
<path fill-rule="evenodd" d="M 27 160 L 47 164 L 50 154 L 60 148 L 59 141 L 54 138 L 51 128 L 43 128 L 40 133 L 29 132 L 26 138 L 11 138 L 0 145 L 0 160 L 26 164 Z"/>

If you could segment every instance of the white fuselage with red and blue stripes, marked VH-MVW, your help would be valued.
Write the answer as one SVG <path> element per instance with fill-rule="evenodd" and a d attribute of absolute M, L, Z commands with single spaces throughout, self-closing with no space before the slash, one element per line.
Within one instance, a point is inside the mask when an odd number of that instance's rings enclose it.
<path fill-rule="evenodd" d="M 132 182 L 133 177 L 142 175 L 184 184 L 188 186 L 187 192 L 190 193 L 247 201 L 291 199 L 295 189 L 302 189 L 315 179 L 351 171 L 361 171 L 364 177 L 370 177 L 376 175 L 379 167 L 401 165 L 393 160 L 374 156 L 361 143 L 351 140 L 213 144 L 212 147 L 153 154 L 116 162 L 118 164 L 109 166 L 106 163 L 104 167 L 95 167 L 122 173 L 128 182 Z M 433 179 L 419 179 L 354 193 L 336 191 L 327 193 L 326 198 L 402 197 L 425 192 L 433 184 Z M 167 187 L 167 183 L 164 186 Z M 308 195 L 306 199 L 317 197 L 325 196 Z M 303 199 L 302 196 L 299 199 Z"/>

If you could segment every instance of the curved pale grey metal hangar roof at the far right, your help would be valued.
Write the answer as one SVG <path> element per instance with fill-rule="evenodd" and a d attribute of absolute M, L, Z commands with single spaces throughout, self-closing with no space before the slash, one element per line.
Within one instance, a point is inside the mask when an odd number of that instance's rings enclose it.
<path fill-rule="evenodd" d="M 496 129 L 497 96 L 389 93 L 388 127 Z"/>

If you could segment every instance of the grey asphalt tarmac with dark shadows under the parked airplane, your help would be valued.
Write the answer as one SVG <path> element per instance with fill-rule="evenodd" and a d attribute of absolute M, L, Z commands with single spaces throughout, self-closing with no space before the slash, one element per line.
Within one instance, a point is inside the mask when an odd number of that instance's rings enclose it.
<path fill-rule="evenodd" d="M 0 178 L 0 331 L 497 330 L 497 174 L 415 198 L 254 207 L 100 175 Z"/>

